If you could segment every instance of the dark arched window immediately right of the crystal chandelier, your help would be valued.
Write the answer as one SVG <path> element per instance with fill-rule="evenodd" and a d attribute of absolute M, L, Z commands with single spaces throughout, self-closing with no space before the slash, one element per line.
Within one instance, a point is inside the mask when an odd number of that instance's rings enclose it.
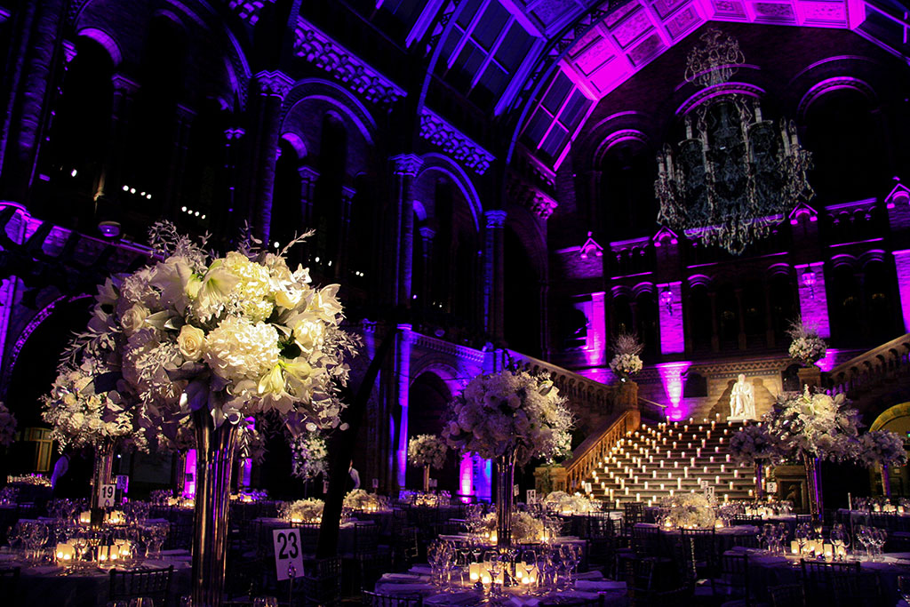
<path fill-rule="evenodd" d="M 873 197 L 889 177 L 873 109 L 853 88 L 826 93 L 809 106 L 803 143 L 814 169 L 808 178 L 825 204 Z"/>

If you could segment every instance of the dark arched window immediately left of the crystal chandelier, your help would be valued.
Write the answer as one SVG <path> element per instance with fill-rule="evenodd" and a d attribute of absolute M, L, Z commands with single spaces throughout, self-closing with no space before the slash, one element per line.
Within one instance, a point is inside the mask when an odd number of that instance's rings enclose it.
<path fill-rule="evenodd" d="M 600 215 L 606 233 L 612 239 L 651 235 L 657 223 L 657 162 L 651 147 L 625 139 L 607 150 L 601 167 Z"/>

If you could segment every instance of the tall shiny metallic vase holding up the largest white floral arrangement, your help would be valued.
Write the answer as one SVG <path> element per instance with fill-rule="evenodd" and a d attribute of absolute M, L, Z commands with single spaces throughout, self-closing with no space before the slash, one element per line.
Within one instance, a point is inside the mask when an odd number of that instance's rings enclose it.
<path fill-rule="evenodd" d="M 196 430 L 196 511 L 193 606 L 219 607 L 224 594 L 227 514 L 237 426 L 216 428 L 208 410 L 193 413 Z"/>

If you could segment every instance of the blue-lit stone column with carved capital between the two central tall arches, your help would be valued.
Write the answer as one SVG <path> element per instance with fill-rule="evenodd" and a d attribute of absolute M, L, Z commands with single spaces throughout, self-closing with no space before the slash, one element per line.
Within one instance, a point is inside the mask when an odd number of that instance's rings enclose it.
<path fill-rule="evenodd" d="M 417 177 L 423 158 L 416 154 L 401 154 L 390 158 L 395 176 L 398 207 L 398 272 L 395 302 L 410 307 L 411 279 L 414 271 L 414 177 Z"/>

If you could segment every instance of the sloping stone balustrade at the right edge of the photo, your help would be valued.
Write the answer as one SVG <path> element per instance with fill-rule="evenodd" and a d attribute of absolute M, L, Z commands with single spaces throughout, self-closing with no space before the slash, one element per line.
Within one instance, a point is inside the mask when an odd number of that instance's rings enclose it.
<path fill-rule="evenodd" d="M 824 374 L 825 387 L 850 394 L 910 374 L 910 333 L 849 359 Z"/>

